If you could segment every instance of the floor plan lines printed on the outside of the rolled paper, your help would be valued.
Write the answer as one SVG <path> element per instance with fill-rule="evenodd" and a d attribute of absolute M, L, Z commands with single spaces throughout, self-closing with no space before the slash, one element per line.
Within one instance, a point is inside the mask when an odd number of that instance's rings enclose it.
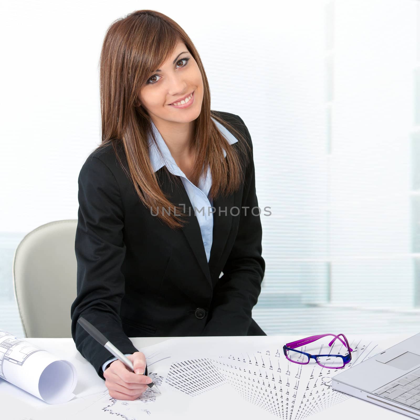
<path fill-rule="evenodd" d="M 0 330 L 0 378 L 7 380 L 3 373 L 6 361 L 22 366 L 31 354 L 44 351 L 27 341 L 18 339 L 7 331 Z"/>

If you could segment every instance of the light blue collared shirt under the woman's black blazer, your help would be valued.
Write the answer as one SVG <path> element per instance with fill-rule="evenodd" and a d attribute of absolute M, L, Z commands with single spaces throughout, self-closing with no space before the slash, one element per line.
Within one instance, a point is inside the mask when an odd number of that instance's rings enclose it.
<path fill-rule="evenodd" d="M 228 131 L 225 127 L 222 126 L 218 121 L 216 121 L 213 117 L 211 119 L 216 124 L 217 128 L 220 130 L 220 132 L 223 134 L 223 136 L 226 138 L 226 140 L 229 142 L 229 144 L 234 144 L 238 141 L 236 137 Z M 204 249 L 206 251 L 207 256 L 207 262 L 210 260 L 210 249 L 211 245 L 213 243 L 213 213 L 211 211 L 207 211 L 208 207 L 213 206 L 213 202 L 210 203 L 208 199 L 208 194 L 210 192 L 210 188 L 212 185 L 212 177 L 210 172 L 210 165 L 207 166 L 207 176 L 204 178 L 204 174 L 201 176 L 199 180 L 199 188 L 195 186 L 184 174 L 184 172 L 179 169 L 178 165 L 175 163 L 175 160 L 173 159 L 171 152 L 168 149 L 168 146 L 165 143 L 165 140 L 163 140 L 163 137 L 161 136 L 160 132 L 157 130 L 155 124 L 153 121 L 152 123 L 152 130 L 155 134 L 156 142 L 159 146 L 160 151 L 162 152 L 162 155 L 165 158 L 165 161 L 162 160 L 162 157 L 160 156 L 159 151 L 156 149 L 156 145 L 153 142 L 153 139 L 149 136 L 148 144 L 149 144 L 149 157 L 150 162 L 152 163 L 153 170 L 156 172 L 162 166 L 165 166 L 168 168 L 168 171 L 173 173 L 173 175 L 181 176 L 182 183 L 184 184 L 186 193 L 188 194 L 189 201 L 191 201 L 191 205 L 193 207 L 193 211 L 195 211 L 195 215 L 198 220 L 198 224 L 200 226 L 201 230 L 201 236 L 203 239 Z M 226 150 L 223 149 L 223 156 L 226 157 Z M 185 203 L 186 204 L 186 203 Z M 204 208 L 204 210 L 200 211 Z M 197 210 L 195 210 L 197 209 Z M 127 356 L 127 354 L 126 354 Z M 102 371 L 105 371 L 106 365 L 108 365 L 109 362 L 113 362 L 114 360 L 117 360 L 116 357 L 113 359 L 107 360 L 102 365 Z"/>

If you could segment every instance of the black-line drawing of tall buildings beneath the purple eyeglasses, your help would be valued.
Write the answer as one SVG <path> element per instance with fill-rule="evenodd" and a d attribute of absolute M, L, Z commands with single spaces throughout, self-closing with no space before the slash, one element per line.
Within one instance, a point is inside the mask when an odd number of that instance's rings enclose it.
<path fill-rule="evenodd" d="M 350 346 L 353 349 L 352 360 L 345 369 L 376 354 L 374 350 L 377 346 L 372 342 L 354 340 Z M 311 354 L 321 354 L 322 345 L 318 350 L 317 353 L 313 348 L 302 349 Z M 346 353 L 345 347 L 339 344 L 331 346 L 329 351 L 331 354 Z M 341 369 L 311 362 L 308 365 L 290 362 L 284 357 L 282 349 L 219 357 L 213 362 L 242 398 L 283 419 L 303 419 L 350 398 L 331 388 L 331 377 Z"/>

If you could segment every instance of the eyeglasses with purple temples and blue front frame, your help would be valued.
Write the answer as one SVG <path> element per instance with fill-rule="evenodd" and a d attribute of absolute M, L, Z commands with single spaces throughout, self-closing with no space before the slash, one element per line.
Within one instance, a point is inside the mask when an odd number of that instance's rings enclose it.
<path fill-rule="evenodd" d="M 300 352 L 299 350 L 294 350 L 296 347 L 303 346 L 304 344 L 312 343 L 313 341 L 317 341 L 325 336 L 333 336 L 334 339 L 330 341 L 328 346 L 331 347 L 336 339 L 339 339 L 341 343 L 346 346 L 348 349 L 349 354 L 343 356 L 341 354 L 315 354 L 312 355 L 310 353 Z M 339 336 L 343 336 L 345 342 L 341 340 Z M 290 360 L 294 363 L 299 363 L 299 365 L 307 365 L 310 359 L 315 359 L 318 365 L 322 367 L 329 367 L 332 369 L 342 369 L 344 365 L 346 365 L 350 360 L 352 360 L 352 351 L 353 349 L 349 346 L 349 341 L 347 341 L 346 336 L 344 334 L 339 334 L 336 336 L 335 334 L 322 334 L 320 336 L 311 336 L 306 337 L 305 339 L 293 341 L 291 343 L 287 343 L 283 346 L 283 353 L 286 356 L 287 360 Z"/>

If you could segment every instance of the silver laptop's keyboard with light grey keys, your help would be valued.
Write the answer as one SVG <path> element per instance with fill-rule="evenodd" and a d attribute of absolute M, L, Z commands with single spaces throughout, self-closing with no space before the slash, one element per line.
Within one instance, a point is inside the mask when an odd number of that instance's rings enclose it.
<path fill-rule="evenodd" d="M 381 386 L 373 394 L 420 410 L 420 369 Z"/>

